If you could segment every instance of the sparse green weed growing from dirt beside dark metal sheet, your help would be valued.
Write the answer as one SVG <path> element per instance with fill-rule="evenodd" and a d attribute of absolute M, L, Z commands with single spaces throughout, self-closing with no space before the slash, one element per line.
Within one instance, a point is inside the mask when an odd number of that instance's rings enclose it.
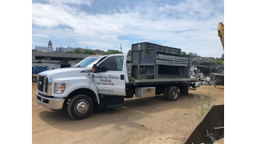
<path fill-rule="evenodd" d="M 195 95 L 195 100 L 196 100 L 196 116 L 198 120 L 201 120 L 205 113 L 209 111 L 211 108 L 211 103 L 212 103 L 212 95 L 213 95 L 213 87 L 209 86 L 209 89 L 207 91 L 207 96 L 205 97 L 204 95 Z"/>

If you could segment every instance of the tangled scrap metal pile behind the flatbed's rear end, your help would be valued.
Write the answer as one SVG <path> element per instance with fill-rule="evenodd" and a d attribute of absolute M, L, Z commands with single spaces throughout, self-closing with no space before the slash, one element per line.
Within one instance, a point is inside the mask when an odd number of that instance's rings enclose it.
<path fill-rule="evenodd" d="M 215 79 L 212 79 L 212 74 L 224 74 L 222 67 L 211 60 L 193 59 L 190 63 L 190 77 L 198 79 L 195 86 L 213 84 Z"/>

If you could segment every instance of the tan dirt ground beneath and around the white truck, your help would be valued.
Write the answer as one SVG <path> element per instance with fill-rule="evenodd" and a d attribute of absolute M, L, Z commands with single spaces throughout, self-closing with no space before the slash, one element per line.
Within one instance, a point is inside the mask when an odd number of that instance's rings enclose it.
<path fill-rule="evenodd" d="M 200 86 L 177 101 L 161 95 L 125 99 L 124 106 L 104 108 L 83 120 L 36 103 L 32 84 L 33 143 L 184 143 L 200 122 L 195 95 L 210 93 L 212 104 L 224 104 L 224 86 Z"/>

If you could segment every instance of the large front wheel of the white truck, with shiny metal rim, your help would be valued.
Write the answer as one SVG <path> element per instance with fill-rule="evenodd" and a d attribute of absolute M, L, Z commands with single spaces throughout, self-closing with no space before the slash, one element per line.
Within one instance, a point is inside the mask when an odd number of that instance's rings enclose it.
<path fill-rule="evenodd" d="M 68 115 L 76 120 L 86 118 L 92 113 L 92 109 L 92 99 L 87 95 L 76 95 L 67 106 Z"/>

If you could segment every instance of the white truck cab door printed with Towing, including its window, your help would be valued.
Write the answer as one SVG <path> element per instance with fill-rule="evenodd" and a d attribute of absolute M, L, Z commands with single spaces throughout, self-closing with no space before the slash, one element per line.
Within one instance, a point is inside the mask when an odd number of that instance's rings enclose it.
<path fill-rule="evenodd" d="M 99 72 L 93 73 L 93 82 L 99 94 L 125 96 L 123 63 L 124 56 L 110 56 L 98 64 Z"/>

